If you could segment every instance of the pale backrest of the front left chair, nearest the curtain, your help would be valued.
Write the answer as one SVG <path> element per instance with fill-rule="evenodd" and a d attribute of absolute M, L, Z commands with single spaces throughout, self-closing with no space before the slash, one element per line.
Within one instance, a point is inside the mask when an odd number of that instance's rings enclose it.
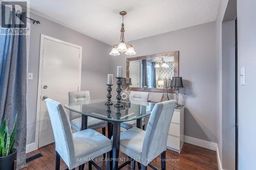
<path fill-rule="evenodd" d="M 69 168 L 74 167 L 75 150 L 68 115 L 60 103 L 52 99 L 46 99 L 45 103 L 52 124 L 55 139 L 55 150 L 61 156 L 63 161 L 69 166 Z"/>

